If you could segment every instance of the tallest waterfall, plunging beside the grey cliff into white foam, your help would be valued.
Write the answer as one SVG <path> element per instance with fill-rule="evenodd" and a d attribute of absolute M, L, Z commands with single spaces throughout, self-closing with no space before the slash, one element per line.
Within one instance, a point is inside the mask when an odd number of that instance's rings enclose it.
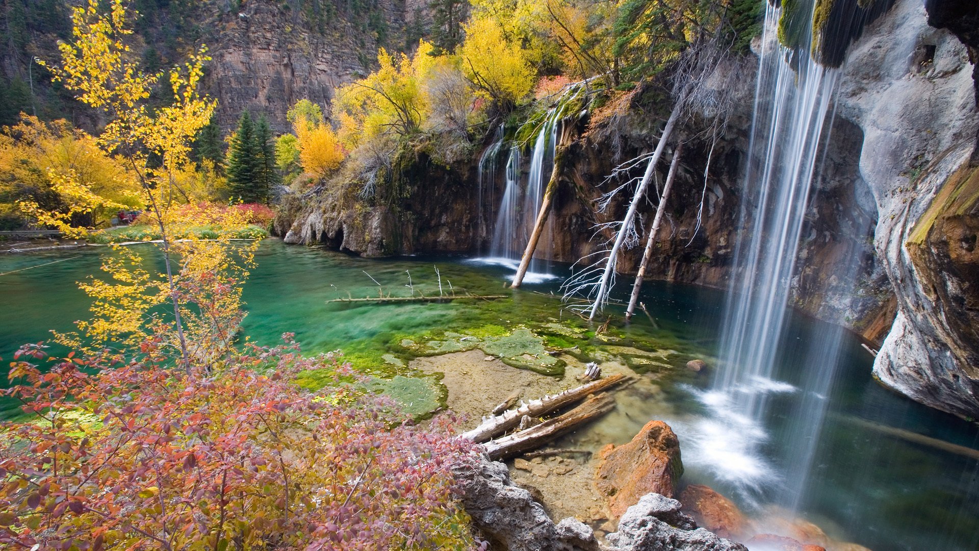
<path fill-rule="evenodd" d="M 825 415 L 841 329 L 819 334 L 805 347 L 808 354 L 781 360 L 779 355 L 800 235 L 818 178 L 819 146 L 830 130 L 838 71 L 816 64 L 806 51 L 789 52 L 779 46 L 778 17 L 779 10 L 769 4 L 720 366 L 712 389 L 701 395 L 710 416 L 693 430 L 692 443 L 696 461 L 745 497 L 764 497 L 794 509 Z M 811 42 L 811 36 L 801 40 Z M 776 361 L 794 362 L 791 369 L 802 373 L 798 386 L 775 380 Z M 788 458 L 772 460 L 767 455 L 773 440 L 769 400 L 787 392 L 793 393 L 793 411 L 780 426 L 784 435 L 779 440 L 794 447 Z"/>

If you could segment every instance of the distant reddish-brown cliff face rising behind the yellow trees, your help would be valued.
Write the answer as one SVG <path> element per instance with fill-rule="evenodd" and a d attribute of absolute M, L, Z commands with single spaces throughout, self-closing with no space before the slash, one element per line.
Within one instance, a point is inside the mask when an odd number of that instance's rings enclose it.
<path fill-rule="evenodd" d="M 319 29 L 295 2 L 250 0 L 240 11 L 215 12 L 208 25 L 219 32 L 209 43 L 205 88 L 218 100 L 222 128 L 234 127 L 248 109 L 266 114 L 274 130 L 287 131 L 286 112 L 301 99 L 329 110 L 337 86 L 364 75 L 378 46 L 395 40 L 404 26 L 403 0 L 369 2 L 380 16 L 375 28 L 357 23 L 366 16 L 344 13 L 332 2 L 314 4 L 332 8 Z"/>

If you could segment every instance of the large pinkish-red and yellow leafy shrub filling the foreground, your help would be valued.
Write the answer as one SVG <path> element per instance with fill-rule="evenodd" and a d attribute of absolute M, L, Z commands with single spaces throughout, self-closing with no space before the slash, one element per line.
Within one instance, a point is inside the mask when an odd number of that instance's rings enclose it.
<path fill-rule="evenodd" d="M 23 347 L 6 392 L 37 419 L 0 436 L 0 544 L 474 547 L 451 476 L 471 444 L 402 423 L 334 355 L 303 359 L 284 336 L 189 375 L 155 338 L 129 361 Z M 334 383 L 304 392 L 292 380 L 311 369 Z"/>

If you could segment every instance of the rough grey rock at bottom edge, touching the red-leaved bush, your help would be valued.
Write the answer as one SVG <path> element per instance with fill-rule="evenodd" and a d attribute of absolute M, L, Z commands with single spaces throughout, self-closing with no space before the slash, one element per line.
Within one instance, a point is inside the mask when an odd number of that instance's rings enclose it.
<path fill-rule="evenodd" d="M 510 481 L 506 466 L 483 457 L 455 472 L 462 505 L 492 543 L 508 551 L 598 551 L 591 528 L 575 519 L 554 524 L 531 492 Z"/>

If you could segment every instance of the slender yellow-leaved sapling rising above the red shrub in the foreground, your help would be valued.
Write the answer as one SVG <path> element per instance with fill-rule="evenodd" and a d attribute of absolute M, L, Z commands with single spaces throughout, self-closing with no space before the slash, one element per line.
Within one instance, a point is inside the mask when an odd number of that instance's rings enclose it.
<path fill-rule="evenodd" d="M 238 283 L 251 266 L 254 245 L 231 247 L 229 230 L 245 225 L 244 217 L 231 209 L 189 203 L 192 197 L 180 185 L 192 166 L 192 140 L 208 125 L 215 106 L 198 92 L 206 49 L 168 71 L 172 102 L 151 109 L 147 100 L 164 74 L 146 74 L 132 61 L 126 43 L 132 30 L 123 1 L 111 0 L 109 13 L 102 12 L 103 5 L 88 0 L 72 9 L 72 40 L 59 45 L 62 63 L 51 70 L 80 101 L 108 116 L 97 142 L 124 159 L 138 181 L 147 206 L 144 216 L 158 229 L 165 273 L 157 276 L 138 255 L 117 251 L 120 256 L 103 267 L 112 280 L 82 285 L 95 299 L 94 317 L 79 328 L 96 344 L 132 344 L 153 334 L 188 374 L 208 370 L 237 330 L 242 316 Z M 71 172 L 58 177 L 84 187 Z M 89 199 L 82 196 L 78 202 L 84 207 Z M 213 239 L 199 237 L 202 227 Z M 164 302 L 172 307 L 171 318 L 159 308 Z"/>

